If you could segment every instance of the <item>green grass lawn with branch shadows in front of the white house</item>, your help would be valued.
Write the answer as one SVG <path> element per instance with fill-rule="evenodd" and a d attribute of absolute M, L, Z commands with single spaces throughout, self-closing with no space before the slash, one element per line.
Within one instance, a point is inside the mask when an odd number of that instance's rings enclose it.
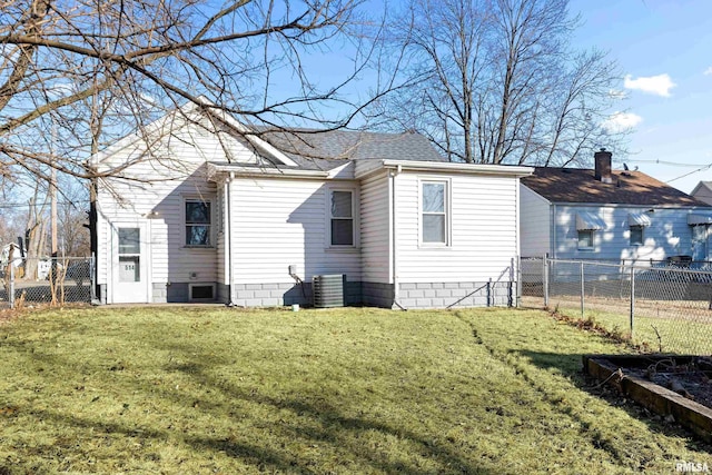
<path fill-rule="evenodd" d="M 712 465 L 586 387 L 582 354 L 625 350 L 537 310 L 30 314 L 0 326 L 0 474 Z"/>

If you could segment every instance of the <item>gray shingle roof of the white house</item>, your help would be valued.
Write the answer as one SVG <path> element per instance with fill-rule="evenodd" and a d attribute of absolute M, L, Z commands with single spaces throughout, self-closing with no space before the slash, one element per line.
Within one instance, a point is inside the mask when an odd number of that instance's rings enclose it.
<path fill-rule="evenodd" d="M 330 170 L 349 160 L 447 161 L 424 136 L 356 130 L 258 130 L 259 137 L 307 170 Z"/>

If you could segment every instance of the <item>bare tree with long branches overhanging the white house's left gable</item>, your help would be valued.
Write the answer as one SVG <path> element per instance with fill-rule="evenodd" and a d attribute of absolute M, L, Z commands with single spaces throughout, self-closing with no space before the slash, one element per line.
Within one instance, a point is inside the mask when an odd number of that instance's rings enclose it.
<path fill-rule="evenodd" d="M 0 175 L 31 184 L 48 180 L 51 167 L 97 177 L 86 164 L 91 152 L 199 96 L 245 122 L 343 127 L 393 86 L 373 81 L 373 96 L 347 99 L 376 55 L 359 8 L 357 0 L 6 0 Z M 340 75 L 330 82 L 312 75 L 312 55 L 340 49 L 350 53 Z M 327 109 L 342 113 L 326 117 Z"/>

